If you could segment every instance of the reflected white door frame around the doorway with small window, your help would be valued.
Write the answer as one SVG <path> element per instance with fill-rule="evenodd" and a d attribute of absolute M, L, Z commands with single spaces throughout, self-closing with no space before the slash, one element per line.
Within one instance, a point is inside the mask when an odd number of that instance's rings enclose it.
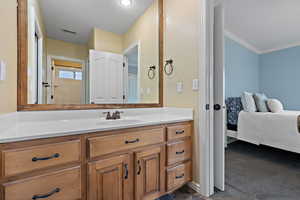
<path fill-rule="evenodd" d="M 68 57 L 64 57 L 64 56 L 56 56 L 56 55 L 48 55 L 47 56 L 47 82 L 50 83 L 51 87 L 50 89 L 47 90 L 47 104 L 53 104 L 53 99 L 51 99 L 51 95 L 53 94 L 54 90 L 53 90 L 53 77 L 55 76 L 55 74 L 53 74 L 52 71 L 52 60 L 65 60 L 65 61 L 70 61 L 70 62 L 78 62 L 82 65 L 82 78 L 84 80 L 82 80 L 82 94 L 84 95 L 84 97 L 82 97 L 84 99 L 84 101 L 86 101 L 87 97 L 86 97 L 86 61 L 85 60 L 81 60 L 81 59 L 76 59 L 76 58 L 68 58 Z M 87 102 L 85 102 L 87 103 Z"/>

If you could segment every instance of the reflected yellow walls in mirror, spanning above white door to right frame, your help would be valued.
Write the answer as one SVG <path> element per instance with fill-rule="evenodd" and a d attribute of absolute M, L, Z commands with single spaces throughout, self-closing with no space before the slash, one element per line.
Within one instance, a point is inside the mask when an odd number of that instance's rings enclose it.
<path fill-rule="evenodd" d="M 158 22 L 158 0 L 155 0 L 123 35 L 94 28 L 88 42 L 90 49 L 117 54 L 123 54 L 132 44 L 140 43 L 140 89 L 144 91 L 141 103 L 158 103 L 158 68 L 154 79 L 150 80 L 147 75 L 150 66 L 159 65 Z"/>

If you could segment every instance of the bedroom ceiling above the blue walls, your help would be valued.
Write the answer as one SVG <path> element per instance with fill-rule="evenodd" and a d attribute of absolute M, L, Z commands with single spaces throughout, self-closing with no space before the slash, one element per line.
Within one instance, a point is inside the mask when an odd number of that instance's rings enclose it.
<path fill-rule="evenodd" d="M 300 44 L 300 0 L 225 0 L 225 29 L 260 52 Z"/>

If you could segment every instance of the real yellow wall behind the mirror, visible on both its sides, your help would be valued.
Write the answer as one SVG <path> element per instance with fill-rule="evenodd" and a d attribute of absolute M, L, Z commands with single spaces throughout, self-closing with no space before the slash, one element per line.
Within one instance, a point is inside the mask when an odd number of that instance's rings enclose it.
<path fill-rule="evenodd" d="M 192 91 L 192 79 L 198 77 L 197 46 L 197 0 L 165 0 L 165 58 L 175 61 L 174 75 L 165 77 L 164 103 L 165 106 L 193 107 L 197 118 L 198 93 Z M 9 19 L 9 20 L 8 20 Z M 0 81 L 0 113 L 14 112 L 17 109 L 17 13 L 16 1 L 2 0 L 0 6 L 0 59 L 7 62 L 7 79 Z M 50 41 L 49 53 L 59 54 L 55 47 L 57 41 Z M 51 46 L 53 44 L 53 46 Z M 56 53 L 57 52 L 57 53 Z M 81 50 L 79 51 L 81 52 Z M 67 56 L 82 57 L 83 53 L 71 50 Z M 85 54 L 87 56 L 87 54 Z M 184 83 L 184 91 L 176 92 L 176 82 Z M 198 124 L 195 123 L 194 143 L 198 141 Z M 199 144 L 195 144 L 198 146 Z M 195 147 L 196 148 L 196 147 Z M 194 151 L 194 180 L 199 180 L 199 155 Z"/>

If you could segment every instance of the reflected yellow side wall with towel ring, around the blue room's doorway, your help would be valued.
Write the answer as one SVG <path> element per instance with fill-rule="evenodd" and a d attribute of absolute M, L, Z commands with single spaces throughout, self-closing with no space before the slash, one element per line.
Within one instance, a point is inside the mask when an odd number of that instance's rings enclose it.
<path fill-rule="evenodd" d="M 126 50 L 132 44 L 140 42 L 140 89 L 141 103 L 158 103 L 158 65 L 159 65 L 159 29 L 158 29 L 158 1 L 145 11 L 145 13 L 130 27 L 123 36 L 123 49 Z M 148 69 L 155 65 L 156 77 L 148 78 Z M 147 94 L 147 88 L 150 93 Z"/>

